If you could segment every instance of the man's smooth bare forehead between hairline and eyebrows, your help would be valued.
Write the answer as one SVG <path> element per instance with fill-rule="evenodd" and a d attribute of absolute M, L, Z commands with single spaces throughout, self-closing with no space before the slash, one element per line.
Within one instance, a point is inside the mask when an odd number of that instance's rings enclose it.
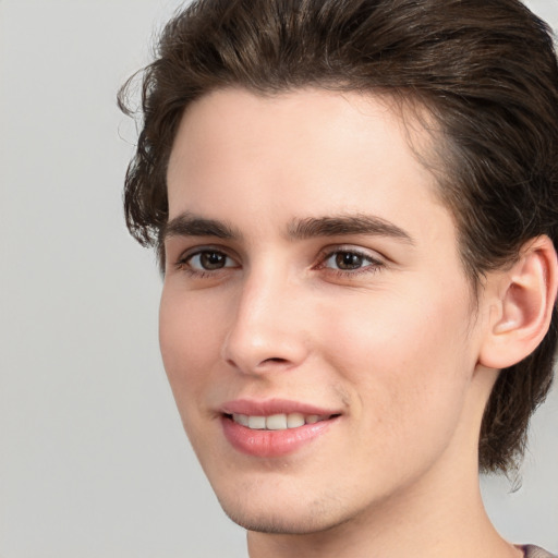
<path fill-rule="evenodd" d="M 387 97 L 322 89 L 206 95 L 177 134 L 169 218 L 189 213 L 262 231 L 293 219 L 373 214 L 437 235 L 449 213 L 417 156 L 430 150 L 432 136 Z"/>

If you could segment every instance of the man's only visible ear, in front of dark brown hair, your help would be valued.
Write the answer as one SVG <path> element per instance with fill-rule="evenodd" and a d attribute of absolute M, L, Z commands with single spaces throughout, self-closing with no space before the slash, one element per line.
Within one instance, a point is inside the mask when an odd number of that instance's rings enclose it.
<path fill-rule="evenodd" d="M 501 369 L 530 355 L 548 331 L 557 289 L 556 250 L 546 235 L 525 243 L 510 269 L 490 274 L 488 328 L 478 364 Z"/>

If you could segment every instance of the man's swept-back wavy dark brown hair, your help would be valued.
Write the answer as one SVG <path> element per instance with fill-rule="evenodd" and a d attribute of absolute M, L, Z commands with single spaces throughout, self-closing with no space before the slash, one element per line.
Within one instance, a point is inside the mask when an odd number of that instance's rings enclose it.
<path fill-rule="evenodd" d="M 142 77 L 142 129 L 126 225 L 163 265 L 167 165 L 184 110 L 228 86 L 388 94 L 436 122 L 439 195 L 465 271 L 513 262 L 527 240 L 558 245 L 558 68 L 549 27 L 518 0 L 198 0 L 167 24 Z M 131 113 L 129 94 L 119 94 Z M 553 379 L 557 310 L 541 345 L 502 371 L 485 410 L 484 471 L 509 471 Z"/>

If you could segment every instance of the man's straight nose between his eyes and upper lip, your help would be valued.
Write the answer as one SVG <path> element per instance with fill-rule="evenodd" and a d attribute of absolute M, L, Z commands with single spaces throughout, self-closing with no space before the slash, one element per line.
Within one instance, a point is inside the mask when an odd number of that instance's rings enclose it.
<path fill-rule="evenodd" d="M 244 374 L 287 371 L 308 354 L 301 292 L 284 274 L 254 271 L 242 284 L 222 345 L 223 360 Z"/>

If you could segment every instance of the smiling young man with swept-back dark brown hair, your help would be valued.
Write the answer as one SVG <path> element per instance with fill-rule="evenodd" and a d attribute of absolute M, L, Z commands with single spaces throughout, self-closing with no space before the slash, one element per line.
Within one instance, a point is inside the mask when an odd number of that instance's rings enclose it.
<path fill-rule="evenodd" d="M 558 69 L 515 0 L 206 0 L 125 189 L 252 558 L 549 556 L 490 524 L 556 347 Z"/>

